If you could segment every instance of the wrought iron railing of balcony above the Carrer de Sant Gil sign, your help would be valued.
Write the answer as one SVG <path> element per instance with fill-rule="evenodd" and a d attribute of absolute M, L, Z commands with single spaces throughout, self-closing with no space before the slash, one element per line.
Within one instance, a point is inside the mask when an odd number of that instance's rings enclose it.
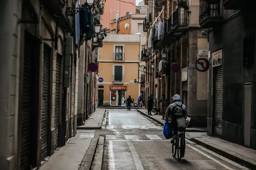
<path fill-rule="evenodd" d="M 221 17 L 223 16 L 222 4 L 220 1 L 217 4 L 210 4 L 204 0 L 200 0 L 199 22 L 206 17 Z"/>

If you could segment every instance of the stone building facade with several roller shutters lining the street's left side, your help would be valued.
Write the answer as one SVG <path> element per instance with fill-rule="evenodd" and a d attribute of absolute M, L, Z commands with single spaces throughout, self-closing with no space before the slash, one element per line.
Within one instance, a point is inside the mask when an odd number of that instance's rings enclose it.
<path fill-rule="evenodd" d="M 84 3 L 1 1 L 2 169 L 38 168 L 97 107 L 97 72 L 87 71 L 87 65 L 97 63 L 94 53 L 102 45 L 79 37 L 79 25 L 72 27 L 75 16 L 66 12 Z M 91 77 L 88 83 L 79 83 L 80 68 L 86 70 L 81 79 Z"/>

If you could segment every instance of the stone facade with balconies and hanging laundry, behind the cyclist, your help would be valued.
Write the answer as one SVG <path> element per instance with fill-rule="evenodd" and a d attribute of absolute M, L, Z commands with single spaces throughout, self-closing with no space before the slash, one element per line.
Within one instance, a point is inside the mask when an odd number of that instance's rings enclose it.
<path fill-rule="evenodd" d="M 195 67 L 197 59 L 205 58 L 199 50 L 208 49 L 207 37 L 199 27 L 199 1 L 184 1 L 182 5 L 179 1 L 144 2 L 148 5 L 148 17 L 144 21 L 148 53 L 142 58 L 147 62 L 146 96 L 152 94 L 157 106 L 162 94 L 170 102 L 179 94 L 193 120 L 190 126 L 206 127 L 208 75 Z M 165 58 L 161 54 L 163 50 Z M 176 72 L 170 67 L 173 63 L 180 67 Z"/>

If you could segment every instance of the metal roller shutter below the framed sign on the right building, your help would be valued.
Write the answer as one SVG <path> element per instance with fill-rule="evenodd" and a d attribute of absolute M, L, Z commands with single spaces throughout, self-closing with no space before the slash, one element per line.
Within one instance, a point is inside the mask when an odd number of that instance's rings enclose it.
<path fill-rule="evenodd" d="M 214 135 L 222 135 L 222 66 L 214 68 Z"/>

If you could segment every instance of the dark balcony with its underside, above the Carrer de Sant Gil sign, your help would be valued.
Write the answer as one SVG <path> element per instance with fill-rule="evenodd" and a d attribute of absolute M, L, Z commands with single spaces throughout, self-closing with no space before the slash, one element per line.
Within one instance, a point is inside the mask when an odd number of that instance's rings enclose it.
<path fill-rule="evenodd" d="M 219 27 L 223 21 L 223 9 L 220 0 L 217 4 L 209 4 L 200 0 L 199 25 L 201 28 Z"/>

